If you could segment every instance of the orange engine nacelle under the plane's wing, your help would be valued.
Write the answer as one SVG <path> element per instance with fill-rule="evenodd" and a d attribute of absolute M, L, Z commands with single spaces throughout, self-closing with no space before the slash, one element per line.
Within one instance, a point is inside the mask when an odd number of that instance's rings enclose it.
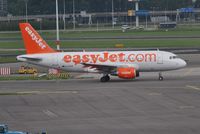
<path fill-rule="evenodd" d="M 139 72 L 136 72 L 135 68 L 118 68 L 117 69 L 117 75 L 119 78 L 123 79 L 134 79 L 137 77 Z"/>

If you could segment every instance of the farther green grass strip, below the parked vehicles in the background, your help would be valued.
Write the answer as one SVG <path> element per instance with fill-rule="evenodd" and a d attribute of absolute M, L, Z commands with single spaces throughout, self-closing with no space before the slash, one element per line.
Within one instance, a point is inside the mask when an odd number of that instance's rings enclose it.
<path fill-rule="evenodd" d="M 107 28 L 109 29 L 109 28 Z M 200 25 L 178 25 L 176 29 L 159 29 L 154 31 L 145 30 L 127 30 L 122 32 L 119 30 L 110 31 L 60 31 L 60 38 L 79 38 L 79 37 L 116 37 L 116 36 L 177 36 L 177 35 L 199 35 Z M 78 29 L 77 29 L 78 30 Z M 88 29 L 91 30 L 91 29 Z M 95 29 L 93 29 L 95 30 Z M 38 30 L 38 32 L 40 32 Z M 56 31 L 42 31 L 40 32 L 43 38 L 55 38 Z M 19 38 L 20 32 L 0 33 L 0 38 Z"/>

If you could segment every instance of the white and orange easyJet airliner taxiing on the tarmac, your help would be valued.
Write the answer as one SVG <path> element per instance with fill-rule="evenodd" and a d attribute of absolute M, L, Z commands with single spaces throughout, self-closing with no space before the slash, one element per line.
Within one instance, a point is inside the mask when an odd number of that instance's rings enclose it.
<path fill-rule="evenodd" d="M 110 75 L 123 79 L 139 77 L 140 72 L 176 70 L 186 66 L 177 55 L 165 51 L 105 51 L 105 52 L 57 52 L 40 37 L 29 23 L 20 23 L 26 55 L 17 60 L 69 72 L 100 73 L 101 82 Z"/>

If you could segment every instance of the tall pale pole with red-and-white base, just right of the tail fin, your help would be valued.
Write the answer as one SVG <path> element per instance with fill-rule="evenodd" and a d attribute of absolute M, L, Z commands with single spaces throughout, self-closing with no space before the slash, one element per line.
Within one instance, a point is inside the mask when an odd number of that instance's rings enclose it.
<path fill-rule="evenodd" d="M 57 45 L 57 50 L 60 50 L 59 20 L 58 20 L 58 0 L 56 0 L 56 45 Z"/>

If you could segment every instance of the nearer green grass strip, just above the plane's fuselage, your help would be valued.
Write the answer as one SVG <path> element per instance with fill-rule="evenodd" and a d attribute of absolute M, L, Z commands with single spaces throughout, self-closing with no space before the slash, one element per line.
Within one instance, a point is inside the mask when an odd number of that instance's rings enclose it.
<path fill-rule="evenodd" d="M 6 45 L 5 45 L 5 44 Z M 48 41 L 49 45 L 56 48 L 54 41 Z M 148 39 L 148 40 L 76 40 L 61 41 L 61 48 L 114 48 L 116 44 L 124 44 L 126 48 L 143 48 L 143 47 L 199 47 L 200 39 Z M 2 49 L 21 49 L 24 48 L 21 42 L 0 42 Z M 8 52 L 9 53 L 9 52 Z M 7 53 L 7 54 L 8 54 Z M 13 52 L 12 52 L 13 53 Z M 17 52 L 16 53 L 20 53 Z M 1 53 L 0 53 L 1 54 Z M 5 54 L 5 52 L 4 52 Z"/>

